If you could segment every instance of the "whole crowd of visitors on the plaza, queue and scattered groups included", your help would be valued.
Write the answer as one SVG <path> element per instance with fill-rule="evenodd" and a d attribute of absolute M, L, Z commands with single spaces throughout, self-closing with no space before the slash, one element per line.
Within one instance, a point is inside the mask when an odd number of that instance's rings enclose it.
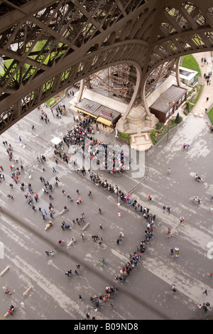
<path fill-rule="evenodd" d="M 60 114 L 60 112 L 62 112 L 61 110 L 58 109 L 58 113 Z M 43 119 L 41 119 L 42 121 L 48 122 L 48 120 L 46 119 L 45 113 L 41 113 Z M 94 139 L 94 130 L 92 128 L 92 119 L 90 119 L 90 117 L 84 117 L 84 119 L 78 119 L 75 122 L 75 125 L 73 127 L 73 129 L 68 130 L 66 132 L 66 134 L 62 137 L 62 140 L 65 144 L 65 146 L 67 146 L 67 148 L 69 149 L 70 146 L 75 145 L 75 149 L 76 149 L 76 145 L 79 146 L 79 153 L 83 152 L 83 156 L 84 153 L 89 154 L 90 158 L 93 159 L 95 156 L 99 156 L 99 158 L 97 159 L 97 164 L 99 163 L 105 163 L 102 165 L 102 168 L 105 167 L 106 170 L 108 170 L 107 166 L 107 157 L 109 157 L 109 151 L 108 151 L 108 145 L 102 141 L 97 141 L 97 139 Z M 86 140 L 86 141 L 85 141 Z M 84 145 L 84 143 L 87 143 L 87 146 Z M 89 144 L 88 144 L 89 143 Z M 9 157 L 9 161 L 11 161 L 13 159 L 13 148 L 11 147 L 11 144 L 8 144 L 6 141 L 3 142 L 4 146 L 6 146 L 6 153 L 8 154 Z M 104 147 L 104 157 L 99 155 L 99 151 L 96 150 L 92 150 L 93 146 L 95 145 L 102 145 L 102 147 Z M 75 153 L 77 153 L 77 151 L 75 151 Z M 101 158 L 100 158 L 101 157 Z M 55 158 L 55 164 L 58 165 L 58 162 L 64 161 L 65 163 L 70 163 L 70 156 L 65 153 L 65 151 L 61 150 L 60 148 L 58 148 L 58 146 L 55 146 L 54 148 L 54 158 Z M 103 159 L 102 159 L 103 158 Z M 125 158 L 129 159 L 128 156 L 124 155 L 124 152 L 121 151 L 117 156 L 116 156 L 116 152 L 115 151 L 111 151 L 111 159 L 113 161 L 113 168 L 108 170 L 109 173 L 123 173 L 124 172 L 124 165 L 125 165 Z M 45 168 L 43 166 L 43 163 L 45 163 L 46 158 L 43 155 L 37 156 L 36 157 L 38 163 L 40 163 L 40 166 L 42 166 L 42 170 L 45 171 Z M 19 177 L 21 175 L 21 172 L 23 171 L 23 165 L 22 165 L 22 161 L 18 159 L 18 161 L 15 161 L 15 163 L 20 163 L 21 166 L 19 167 L 15 167 L 14 165 L 11 164 L 10 168 L 11 168 L 11 179 L 14 181 L 14 183 L 19 183 Z M 120 166 L 119 169 L 116 169 L 117 163 L 120 162 Z M 84 168 L 79 168 L 78 164 L 76 161 L 71 161 L 71 163 L 73 163 L 74 165 L 76 164 L 76 168 L 75 171 L 77 171 L 78 173 L 82 173 L 82 175 L 86 175 L 86 170 Z M 0 166 L 1 171 L 4 171 L 3 166 Z M 53 170 L 54 172 L 55 170 Z M 124 205 L 127 208 L 131 208 L 134 212 L 138 212 L 138 214 L 141 215 L 141 217 L 143 217 L 143 220 L 146 222 L 146 229 L 144 230 L 144 234 L 141 238 L 141 242 L 139 242 L 139 244 L 136 246 L 136 249 L 133 249 L 133 252 L 129 254 L 129 261 L 126 261 L 126 263 L 121 266 L 121 268 L 119 269 L 118 274 L 116 274 L 116 276 L 114 277 L 114 282 L 115 282 L 115 287 L 114 286 L 107 286 L 104 290 L 103 293 L 97 293 L 97 295 L 94 295 L 92 297 L 90 297 L 90 301 L 94 304 L 94 311 L 97 311 L 97 309 L 99 308 L 99 306 L 101 306 L 102 304 L 105 304 L 106 301 L 109 301 L 111 308 L 114 308 L 113 303 L 112 303 L 112 297 L 114 296 L 114 294 L 116 293 L 116 291 L 118 291 L 118 284 L 123 285 L 126 280 L 128 279 L 129 275 L 133 272 L 133 270 L 138 266 L 138 264 L 141 262 L 141 258 L 143 257 L 143 254 L 146 252 L 146 247 L 149 244 L 149 242 L 151 242 L 151 240 L 153 239 L 153 226 L 154 226 L 154 222 L 155 222 L 155 214 L 153 214 L 153 212 L 151 212 L 151 210 L 149 208 L 147 208 L 146 205 L 142 205 L 142 203 L 138 202 L 138 199 L 133 198 L 130 194 L 125 193 L 124 190 L 119 189 L 118 185 L 113 185 L 111 183 L 109 183 L 107 181 L 107 178 L 103 178 L 101 179 L 99 177 L 99 175 L 97 173 L 94 173 L 92 170 L 89 170 L 89 178 L 92 181 L 92 183 L 94 183 L 94 185 L 96 185 L 99 188 L 102 188 L 105 191 L 108 191 L 111 195 L 114 195 L 116 197 L 116 199 L 118 200 L 118 203 L 120 205 Z M 1 174 L 0 177 L 0 181 L 4 180 L 4 175 Z M 45 181 L 45 178 L 43 176 L 40 176 L 40 182 L 43 183 L 43 194 L 48 195 L 50 200 L 53 200 L 52 197 L 52 191 L 54 189 L 54 187 L 56 188 L 58 186 L 58 182 L 60 182 L 60 180 L 57 178 L 57 176 L 55 176 L 55 183 L 51 184 L 48 181 Z M 13 188 L 13 184 L 10 184 L 10 188 Z M 37 208 L 35 208 L 35 203 L 39 203 L 38 200 L 38 194 L 34 194 L 33 192 L 33 186 L 31 183 L 28 183 L 28 185 L 25 185 L 23 182 L 21 183 L 21 191 L 25 191 L 27 189 L 27 192 L 24 194 L 24 198 L 26 200 L 26 202 L 28 203 L 28 205 L 31 205 L 31 208 L 34 211 L 37 211 Z M 63 192 L 63 190 L 62 190 Z M 64 190 L 65 192 L 65 190 Z M 69 194 L 65 194 L 67 196 L 67 200 L 70 200 L 70 202 L 72 202 L 72 198 L 70 197 Z M 79 195 L 79 194 L 78 194 Z M 89 191 L 88 194 L 89 198 L 92 199 L 92 192 Z M 8 195 L 8 198 L 13 199 L 13 195 Z M 148 194 L 147 196 L 147 200 L 148 203 L 151 203 L 151 195 Z M 34 203 L 35 201 L 35 203 Z M 78 203 L 77 203 L 78 202 Z M 81 199 L 78 198 L 78 200 L 76 201 L 77 204 L 81 203 Z M 43 220 L 47 219 L 48 213 L 49 213 L 49 217 L 51 220 L 48 219 L 48 224 L 45 226 L 45 230 L 49 229 L 50 227 L 53 226 L 53 222 L 52 220 L 54 220 L 54 215 L 55 215 L 55 211 L 54 211 L 54 207 L 52 203 L 49 203 L 49 212 L 47 212 L 45 209 L 42 208 L 38 208 L 38 212 L 40 212 Z M 65 206 L 64 208 L 65 210 L 68 211 L 67 207 Z M 168 210 L 168 213 L 170 213 L 170 208 L 165 208 L 163 207 L 163 212 L 165 212 L 165 210 Z M 99 213 L 102 213 L 101 208 L 99 208 Z M 121 217 L 119 215 L 119 217 Z M 72 220 L 73 225 L 75 225 L 75 219 Z M 76 222 L 78 225 L 80 225 L 80 222 L 84 222 L 84 213 L 82 213 L 80 219 L 76 218 Z M 63 231 L 65 231 L 66 229 L 71 230 L 70 225 L 68 225 L 65 221 L 61 222 L 61 228 Z M 102 230 L 102 224 L 100 224 L 100 228 Z M 84 239 L 84 233 L 80 234 L 80 237 L 82 239 Z M 97 235 L 92 235 L 92 238 L 94 239 L 94 241 L 98 241 L 100 242 L 100 246 L 102 246 L 102 238 L 98 237 Z M 72 238 L 73 242 L 75 242 L 75 238 Z M 124 233 L 120 233 L 119 237 L 116 238 L 116 244 L 117 246 L 119 246 L 119 244 L 121 244 L 121 242 L 124 242 Z M 58 242 L 59 243 L 59 242 Z M 61 244 L 61 243 L 60 243 Z M 54 252 L 51 251 L 45 251 L 47 255 L 52 255 L 54 256 Z M 179 257 L 180 251 L 179 248 L 175 248 L 175 257 Z M 99 264 L 101 266 L 104 266 L 105 261 L 104 259 L 99 260 Z M 79 268 L 77 268 L 79 269 Z M 75 269 L 75 274 L 78 275 L 78 271 L 77 269 Z M 69 269 L 65 272 L 65 276 L 67 277 L 71 277 L 72 276 L 72 269 Z M 82 298 L 81 295 L 79 295 L 80 300 L 84 299 Z M 89 313 L 87 313 L 86 318 L 89 319 Z M 95 317 L 92 317 L 93 319 Z"/>

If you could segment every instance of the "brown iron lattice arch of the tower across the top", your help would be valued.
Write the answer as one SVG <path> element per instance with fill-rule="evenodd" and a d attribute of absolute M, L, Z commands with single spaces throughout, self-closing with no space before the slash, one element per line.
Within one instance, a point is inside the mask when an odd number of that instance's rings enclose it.
<path fill-rule="evenodd" d="M 213 0 L 0 0 L 0 134 L 110 66 L 134 66 L 131 104 L 144 100 L 175 59 L 212 42 Z"/>

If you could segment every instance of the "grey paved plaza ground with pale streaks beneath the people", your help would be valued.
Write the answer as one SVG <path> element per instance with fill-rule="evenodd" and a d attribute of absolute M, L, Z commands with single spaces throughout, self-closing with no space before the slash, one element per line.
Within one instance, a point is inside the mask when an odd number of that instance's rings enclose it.
<path fill-rule="evenodd" d="M 202 97 L 201 97 L 202 98 Z M 204 104 L 203 97 L 203 104 Z M 210 103 L 210 101 L 209 101 Z M 69 99 L 65 99 L 68 107 Z M 0 241 L 4 243 L 4 259 L 0 259 L 0 271 L 9 266 L 9 271 L 0 276 L 1 286 L 11 289 L 11 296 L 1 291 L 0 314 L 4 314 L 11 304 L 15 306 L 14 319 L 62 319 L 78 320 L 95 316 L 97 320 L 143 320 L 143 319 L 202 319 L 212 316 L 213 271 L 211 255 L 212 230 L 212 134 L 206 117 L 190 114 L 178 129 L 170 131 L 167 136 L 146 153 L 146 172 L 144 177 L 134 178 L 131 171 L 122 176 L 112 176 L 99 171 L 100 178 L 107 178 L 112 185 L 118 185 L 131 198 L 150 208 L 156 215 L 153 227 L 153 239 L 146 247 L 126 283 L 116 284 L 114 277 L 129 261 L 129 253 L 135 252 L 137 245 L 144 238 L 147 222 L 139 212 L 134 212 L 126 205 L 118 206 L 116 196 L 97 187 L 90 181 L 89 173 L 82 176 L 70 171 L 61 161 L 55 166 L 50 140 L 72 129 L 74 124 L 72 112 L 55 119 L 50 108 L 43 107 L 50 119 L 45 124 L 39 119 L 40 111 L 35 110 L 1 135 L 0 164 L 4 167 L 6 180 L 0 183 Z M 54 108 L 53 108 L 54 109 Z M 35 131 L 31 130 L 35 125 Z M 21 143 L 18 139 L 21 137 Z M 108 144 L 119 143 L 114 132 L 95 131 L 95 138 Z M 10 162 L 6 147 L 2 141 L 7 140 L 13 147 L 13 157 L 23 161 L 24 171 L 20 181 L 11 183 Z M 189 150 L 182 149 L 183 143 L 190 144 Z M 37 154 L 44 154 L 47 161 L 43 172 L 36 160 Z M 20 166 L 16 163 L 15 166 Z M 57 172 L 53 173 L 55 166 Z M 167 171 L 170 168 L 170 175 Z M 29 173 L 31 173 L 31 179 Z M 204 178 L 203 183 L 195 182 L 195 173 Z M 50 230 L 45 230 L 47 221 L 43 221 L 38 207 L 48 210 L 50 200 L 43 195 L 43 183 L 40 176 L 54 184 L 55 176 L 60 182 L 53 186 L 55 220 Z M 38 203 L 32 210 L 26 203 L 20 183 L 31 182 L 34 193 L 39 194 Z M 74 199 L 69 203 L 62 189 Z M 76 190 L 80 190 L 82 205 L 77 205 Z M 92 191 L 92 200 L 89 199 Z M 148 203 L 147 195 L 152 195 Z M 12 194 L 14 200 L 7 198 Z M 200 205 L 192 203 L 193 195 L 202 198 Z M 60 216 L 63 206 L 69 212 Z M 163 212 L 163 205 L 170 207 L 170 214 Z M 102 208 L 102 215 L 99 215 Z M 118 216 L 121 211 L 121 217 Z M 85 223 L 89 227 L 81 239 L 82 225 L 73 225 L 72 219 L 85 214 Z M 180 225 L 180 217 L 185 217 L 185 224 Z M 63 231 L 60 227 L 65 220 L 72 230 Z M 99 224 L 103 225 L 100 230 Z M 168 238 L 170 228 L 173 237 Z M 124 232 L 124 239 L 119 246 L 116 239 Z M 92 235 L 103 238 L 102 247 L 94 242 Z M 67 243 L 75 237 L 76 243 L 67 249 Z M 58 240 L 65 244 L 60 252 L 55 249 Z M 210 247 L 209 247 L 210 245 Z M 179 247 L 180 257 L 170 255 L 170 249 Z M 53 249 L 54 257 L 48 257 L 45 250 Z M 213 254 L 213 252 L 212 252 Z M 104 257 L 106 264 L 100 266 L 99 259 Z M 79 275 L 75 275 L 76 264 L 80 264 Z M 72 277 L 67 278 L 65 271 L 72 269 Z M 175 283 L 177 292 L 172 293 Z M 26 296 L 23 293 L 32 286 Z M 90 297 L 103 293 L 106 286 L 116 286 L 118 290 L 111 298 L 102 303 L 97 311 Z M 207 289 L 207 295 L 203 291 Z M 78 298 L 82 296 L 82 301 Z M 197 308 L 198 303 L 210 303 L 206 313 Z M 114 308 L 111 308 L 111 303 Z M 7 318 L 11 319 L 11 318 Z"/>

